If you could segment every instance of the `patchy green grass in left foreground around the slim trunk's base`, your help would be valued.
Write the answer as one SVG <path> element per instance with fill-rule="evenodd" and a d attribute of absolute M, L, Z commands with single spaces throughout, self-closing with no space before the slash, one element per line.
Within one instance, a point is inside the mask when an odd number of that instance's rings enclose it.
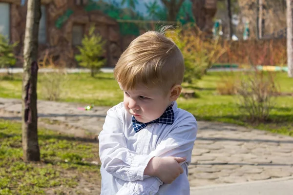
<path fill-rule="evenodd" d="M 45 129 L 38 134 L 41 162 L 25 163 L 21 124 L 0 119 L 0 195 L 79 193 L 80 179 L 94 180 L 99 186 L 100 166 L 89 163 L 99 161 L 98 143 Z"/>

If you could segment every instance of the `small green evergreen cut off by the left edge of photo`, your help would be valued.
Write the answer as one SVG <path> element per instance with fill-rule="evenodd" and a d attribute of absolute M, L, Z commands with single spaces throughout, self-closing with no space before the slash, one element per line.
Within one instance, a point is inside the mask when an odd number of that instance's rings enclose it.
<path fill-rule="evenodd" d="M 0 34 L 0 68 L 14 66 L 16 58 L 13 54 L 13 48 L 17 46 L 17 42 L 9 44 L 2 34 Z"/>

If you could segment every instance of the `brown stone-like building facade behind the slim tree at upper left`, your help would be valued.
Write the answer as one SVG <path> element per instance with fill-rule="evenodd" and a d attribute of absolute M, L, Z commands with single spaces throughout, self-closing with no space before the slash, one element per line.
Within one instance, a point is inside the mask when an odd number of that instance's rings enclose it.
<path fill-rule="evenodd" d="M 99 10 L 85 9 L 87 0 L 42 0 L 39 27 L 39 59 L 46 54 L 54 62 L 67 67 L 77 65 L 74 55 L 84 34 L 91 25 L 106 40 L 106 66 L 114 66 L 122 53 L 119 24 Z M 19 42 L 15 48 L 22 55 L 27 6 L 21 0 L 0 0 L 0 33 L 10 42 Z M 21 65 L 21 63 L 20 63 Z"/>

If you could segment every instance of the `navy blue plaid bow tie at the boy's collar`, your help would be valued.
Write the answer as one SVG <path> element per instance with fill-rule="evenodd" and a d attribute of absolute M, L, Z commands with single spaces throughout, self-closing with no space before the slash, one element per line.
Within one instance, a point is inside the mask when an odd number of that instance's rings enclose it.
<path fill-rule="evenodd" d="M 163 123 L 171 125 L 174 122 L 174 111 L 172 109 L 172 106 L 169 106 L 166 111 L 163 113 L 163 115 L 155 120 L 152 120 L 150 122 L 139 122 L 135 119 L 134 116 L 132 116 L 132 126 L 135 131 L 135 133 L 139 132 L 141 129 L 145 128 L 147 125 L 151 123 Z"/>

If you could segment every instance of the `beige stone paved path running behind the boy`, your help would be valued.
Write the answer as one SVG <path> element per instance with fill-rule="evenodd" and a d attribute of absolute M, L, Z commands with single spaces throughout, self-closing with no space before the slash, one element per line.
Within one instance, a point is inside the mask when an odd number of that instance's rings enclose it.
<path fill-rule="evenodd" d="M 83 111 L 77 109 L 80 106 L 84 105 L 38 101 L 39 121 L 77 136 L 84 130 L 99 133 L 109 107 Z M 20 100 L 0 98 L 0 118 L 20 120 L 20 113 Z M 190 186 L 293 176 L 293 137 L 217 122 L 199 121 L 198 127 Z"/>

